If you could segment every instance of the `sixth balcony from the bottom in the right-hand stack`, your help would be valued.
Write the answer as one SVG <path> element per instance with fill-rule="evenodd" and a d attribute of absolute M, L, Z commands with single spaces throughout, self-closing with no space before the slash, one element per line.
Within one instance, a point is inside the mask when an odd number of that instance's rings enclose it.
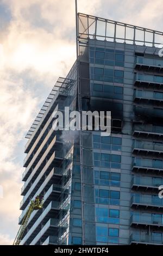
<path fill-rule="evenodd" d="M 163 144 L 161 142 L 133 141 L 133 154 L 150 156 L 163 156 Z"/>

